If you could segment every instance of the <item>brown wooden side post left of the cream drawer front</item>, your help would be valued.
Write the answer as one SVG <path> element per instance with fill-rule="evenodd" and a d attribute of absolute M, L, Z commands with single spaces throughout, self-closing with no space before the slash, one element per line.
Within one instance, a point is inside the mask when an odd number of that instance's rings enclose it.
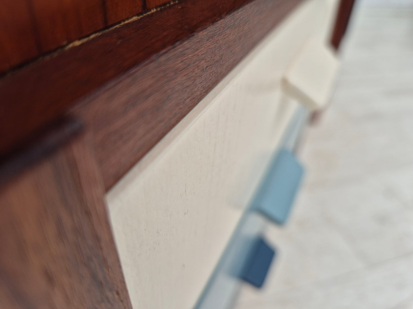
<path fill-rule="evenodd" d="M 0 308 L 131 308 L 89 144 L 0 188 Z"/>

